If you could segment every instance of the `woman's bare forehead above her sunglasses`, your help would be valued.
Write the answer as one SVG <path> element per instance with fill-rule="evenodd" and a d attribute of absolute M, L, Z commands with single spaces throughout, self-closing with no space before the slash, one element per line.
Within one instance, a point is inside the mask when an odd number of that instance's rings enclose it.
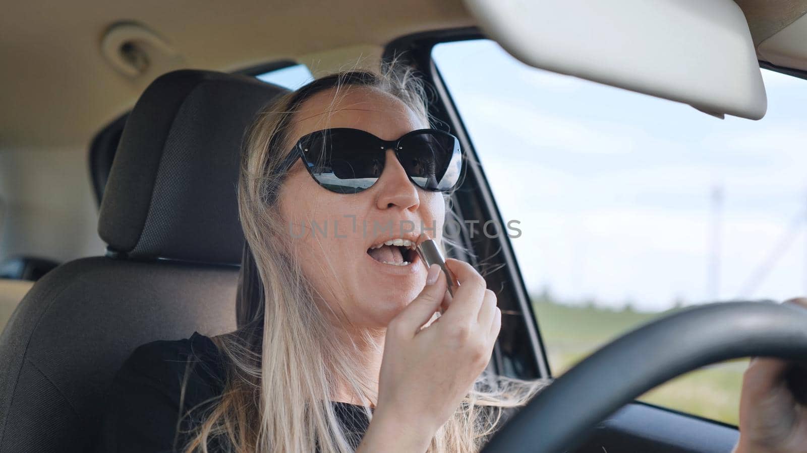
<path fill-rule="evenodd" d="M 291 143 L 313 131 L 353 127 L 382 139 L 429 127 L 403 101 L 369 87 L 327 89 L 308 98 L 292 119 Z"/>

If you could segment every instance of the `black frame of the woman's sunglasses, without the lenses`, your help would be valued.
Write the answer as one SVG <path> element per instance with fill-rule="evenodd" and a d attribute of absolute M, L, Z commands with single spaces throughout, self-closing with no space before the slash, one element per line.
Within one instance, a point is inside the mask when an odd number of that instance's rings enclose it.
<path fill-rule="evenodd" d="M 308 174 L 311 175 L 312 179 L 314 181 L 316 181 L 316 183 L 319 184 L 321 187 L 323 187 L 324 189 L 326 189 L 326 190 L 328 190 L 330 192 L 333 192 L 333 193 L 348 193 L 349 194 L 349 193 L 360 193 L 360 192 L 363 192 L 363 191 L 365 191 L 367 189 L 370 189 L 370 187 L 373 187 L 376 183 L 378 183 L 378 179 L 376 179 L 376 181 L 374 181 L 372 185 L 370 185 L 370 186 L 368 186 L 368 187 L 366 187 L 364 189 L 361 189 L 361 190 L 356 190 L 355 192 L 337 192 L 336 190 L 328 189 L 328 187 L 325 187 L 325 185 L 320 183 L 320 181 L 316 179 L 316 176 L 314 176 L 314 172 L 312 172 L 312 163 L 309 162 L 309 160 L 305 156 L 305 152 L 303 152 L 303 146 L 302 146 L 303 142 L 305 140 L 307 140 L 308 138 L 310 138 L 312 135 L 324 134 L 326 132 L 330 133 L 331 131 L 340 131 L 340 130 L 358 131 L 358 132 L 361 132 L 362 134 L 370 135 L 378 143 L 381 143 L 383 146 L 379 146 L 379 148 L 383 149 L 383 151 L 384 151 L 383 152 L 384 168 L 387 168 L 387 150 L 389 150 L 389 149 L 391 149 L 393 152 L 395 152 L 395 158 L 398 160 L 398 163 L 401 164 L 401 166 L 403 167 L 403 162 L 401 162 L 401 156 L 399 154 L 399 150 L 403 149 L 403 148 L 401 148 L 401 143 L 400 143 L 403 139 L 406 139 L 406 138 L 408 138 L 408 137 L 410 137 L 412 135 L 422 135 L 422 134 L 425 134 L 425 133 L 429 133 L 431 135 L 434 135 L 434 134 L 447 135 L 447 136 L 451 137 L 452 139 L 454 139 L 454 149 L 459 149 L 459 152 L 460 152 L 460 166 L 461 166 L 461 168 L 460 168 L 460 176 L 457 178 L 457 182 L 455 182 L 454 185 L 449 187 L 449 189 L 445 189 L 445 190 L 424 189 L 423 187 L 418 185 L 412 179 L 412 176 L 408 172 L 407 172 L 406 176 L 409 178 L 409 181 L 412 182 L 413 185 L 415 185 L 417 188 L 423 189 L 423 190 L 425 190 L 427 192 L 448 192 L 449 190 L 456 189 L 458 187 L 458 185 L 462 184 L 462 180 L 464 179 L 463 176 L 465 175 L 465 165 L 466 165 L 465 150 L 462 148 L 462 145 L 460 144 L 460 141 L 459 141 L 459 139 L 457 138 L 456 135 L 450 134 L 449 132 L 446 132 L 446 131 L 441 131 L 439 129 L 433 129 L 433 128 L 416 129 L 415 131 L 408 131 L 406 134 L 401 135 L 398 139 L 395 139 L 395 140 L 381 139 L 378 136 L 376 136 L 374 134 L 371 134 L 368 131 L 362 131 L 362 129 L 356 129 L 354 127 L 330 127 L 328 129 L 320 129 L 319 131 L 313 131 L 311 133 L 308 133 L 308 134 L 303 135 L 302 137 L 300 137 L 300 139 L 297 140 L 297 143 L 295 143 L 295 146 L 293 148 L 291 148 L 291 152 L 289 152 L 288 156 L 286 156 L 286 159 L 283 160 L 282 164 L 280 164 L 280 167 L 278 168 L 278 170 L 280 172 L 287 172 L 287 171 L 289 171 L 289 169 L 291 169 L 291 166 L 294 165 L 295 162 L 298 159 L 301 159 L 301 160 L 303 160 L 303 167 L 305 167 L 307 169 Z M 383 172 L 383 170 L 382 170 L 382 172 Z"/>

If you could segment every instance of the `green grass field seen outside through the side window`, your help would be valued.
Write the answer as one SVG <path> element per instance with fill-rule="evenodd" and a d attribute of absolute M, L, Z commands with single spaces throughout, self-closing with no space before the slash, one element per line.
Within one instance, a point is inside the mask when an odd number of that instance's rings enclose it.
<path fill-rule="evenodd" d="M 562 305 L 546 297 L 533 297 L 533 306 L 554 376 L 604 343 L 672 311 L 644 313 Z M 741 359 L 702 368 L 651 390 L 639 400 L 736 425 L 742 372 L 747 364 L 747 359 Z"/>

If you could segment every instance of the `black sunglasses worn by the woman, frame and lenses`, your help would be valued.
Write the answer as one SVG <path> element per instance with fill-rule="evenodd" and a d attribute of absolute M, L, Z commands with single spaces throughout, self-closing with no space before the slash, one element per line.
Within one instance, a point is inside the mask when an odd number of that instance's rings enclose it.
<path fill-rule="evenodd" d="M 358 193 L 381 177 L 388 149 L 395 151 L 409 181 L 421 189 L 445 192 L 460 181 L 463 153 L 459 139 L 437 129 L 410 131 L 397 140 L 379 139 L 350 127 L 315 131 L 297 141 L 280 171 L 288 171 L 300 158 L 325 189 Z"/>

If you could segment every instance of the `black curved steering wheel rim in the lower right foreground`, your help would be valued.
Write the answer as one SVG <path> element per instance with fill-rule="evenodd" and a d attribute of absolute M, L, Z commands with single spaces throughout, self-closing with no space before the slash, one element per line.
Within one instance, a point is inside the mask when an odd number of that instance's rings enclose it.
<path fill-rule="evenodd" d="M 675 376 L 748 356 L 805 360 L 807 310 L 732 301 L 659 318 L 608 343 L 532 400 L 483 453 L 572 451 L 608 415 Z"/>

